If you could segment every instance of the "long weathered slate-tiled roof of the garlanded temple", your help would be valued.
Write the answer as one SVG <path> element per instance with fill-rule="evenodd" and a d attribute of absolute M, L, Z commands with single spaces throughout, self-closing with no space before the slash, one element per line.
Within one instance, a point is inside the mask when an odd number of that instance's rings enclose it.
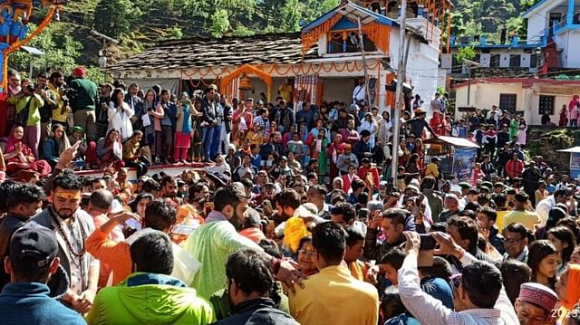
<path fill-rule="evenodd" d="M 300 33 L 272 33 L 247 37 L 191 38 L 166 41 L 111 64 L 110 72 L 175 70 L 242 64 L 295 64 L 302 61 Z M 314 46 L 304 59 L 317 58 Z"/>

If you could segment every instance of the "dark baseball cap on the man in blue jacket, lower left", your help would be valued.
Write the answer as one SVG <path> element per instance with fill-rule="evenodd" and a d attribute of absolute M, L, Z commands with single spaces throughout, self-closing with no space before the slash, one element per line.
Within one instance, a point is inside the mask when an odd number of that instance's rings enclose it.
<path fill-rule="evenodd" d="M 10 242 L 10 261 L 30 267 L 47 267 L 58 253 L 56 235 L 51 229 L 34 222 L 16 229 Z M 30 263 L 30 264 L 29 264 Z"/>

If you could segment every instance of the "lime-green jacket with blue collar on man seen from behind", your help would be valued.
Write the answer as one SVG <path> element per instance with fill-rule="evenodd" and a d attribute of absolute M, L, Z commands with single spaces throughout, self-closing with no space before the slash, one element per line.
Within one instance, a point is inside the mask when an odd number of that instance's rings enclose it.
<path fill-rule="evenodd" d="M 189 324 L 216 320 L 196 290 L 169 275 L 135 272 L 113 287 L 102 288 L 86 318 L 89 324 Z"/>

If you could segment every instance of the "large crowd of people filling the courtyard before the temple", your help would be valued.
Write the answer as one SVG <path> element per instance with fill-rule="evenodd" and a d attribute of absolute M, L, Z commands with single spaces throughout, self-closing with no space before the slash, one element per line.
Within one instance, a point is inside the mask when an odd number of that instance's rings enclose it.
<path fill-rule="evenodd" d="M 578 182 L 520 116 L 453 121 L 442 94 L 394 123 L 362 83 L 320 107 L 292 81 L 274 103 L 9 83 L 0 324 L 580 324 Z M 479 145 L 468 179 L 428 158 L 440 136 Z"/>

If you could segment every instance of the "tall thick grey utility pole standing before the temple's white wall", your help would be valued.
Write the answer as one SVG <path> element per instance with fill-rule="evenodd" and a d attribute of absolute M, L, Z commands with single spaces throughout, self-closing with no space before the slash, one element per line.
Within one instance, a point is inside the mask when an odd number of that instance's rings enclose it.
<path fill-rule="evenodd" d="M 397 91 L 395 93 L 397 104 L 394 111 L 394 126 L 392 129 L 392 161 L 391 178 L 392 185 L 397 186 L 397 168 L 399 167 L 399 138 L 401 137 L 401 110 L 405 104 L 402 92 L 402 83 L 405 81 L 405 36 L 407 34 L 407 0 L 401 0 L 401 14 L 399 19 L 399 60 L 397 66 Z M 409 47 L 407 47 L 409 49 Z"/>

